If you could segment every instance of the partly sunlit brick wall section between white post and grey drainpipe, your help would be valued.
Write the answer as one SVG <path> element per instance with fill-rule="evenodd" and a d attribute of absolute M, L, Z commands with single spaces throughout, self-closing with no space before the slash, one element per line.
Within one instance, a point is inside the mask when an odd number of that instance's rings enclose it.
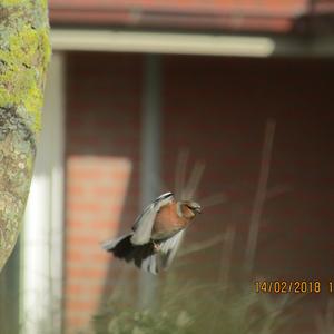
<path fill-rule="evenodd" d="M 141 57 L 68 56 L 65 327 L 86 328 L 112 288 L 100 243 L 137 215 Z"/>

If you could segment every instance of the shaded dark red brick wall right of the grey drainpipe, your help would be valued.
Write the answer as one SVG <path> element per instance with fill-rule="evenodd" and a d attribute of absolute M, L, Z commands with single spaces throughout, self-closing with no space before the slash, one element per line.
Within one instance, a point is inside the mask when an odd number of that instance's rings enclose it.
<path fill-rule="evenodd" d="M 265 206 L 257 269 L 277 278 L 332 277 L 333 67 L 316 60 L 166 58 L 165 166 L 186 147 L 206 163 L 199 197 L 225 190 L 229 198 L 200 216 L 193 228 L 197 239 L 233 220 L 240 234 L 248 230 L 265 122 L 272 118 L 268 187 L 281 195 Z M 165 173 L 171 183 L 174 173 Z M 240 235 L 237 249 L 243 242 Z"/>

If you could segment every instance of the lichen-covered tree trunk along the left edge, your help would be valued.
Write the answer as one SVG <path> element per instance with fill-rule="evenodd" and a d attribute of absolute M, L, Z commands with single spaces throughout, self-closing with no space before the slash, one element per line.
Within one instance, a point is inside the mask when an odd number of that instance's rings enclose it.
<path fill-rule="evenodd" d="M 0 2 L 0 271 L 20 230 L 50 58 L 45 0 Z"/>

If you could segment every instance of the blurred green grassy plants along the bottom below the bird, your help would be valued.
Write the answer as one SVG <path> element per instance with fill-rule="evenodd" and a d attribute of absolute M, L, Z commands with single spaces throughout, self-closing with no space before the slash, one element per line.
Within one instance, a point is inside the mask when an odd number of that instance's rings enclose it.
<path fill-rule="evenodd" d="M 272 334 L 284 333 L 293 303 L 286 295 L 255 293 L 250 284 L 180 282 L 171 272 L 158 307 L 137 310 L 126 291 L 110 298 L 94 318 L 96 334 Z M 124 303 L 127 301 L 126 303 Z"/>

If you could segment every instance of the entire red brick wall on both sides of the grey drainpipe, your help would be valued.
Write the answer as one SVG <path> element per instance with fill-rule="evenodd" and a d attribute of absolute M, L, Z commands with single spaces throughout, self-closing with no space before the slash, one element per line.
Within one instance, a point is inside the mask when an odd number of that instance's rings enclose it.
<path fill-rule="evenodd" d="M 65 326 L 72 333 L 87 325 L 124 267 L 99 243 L 138 213 L 143 59 L 71 53 L 68 60 Z M 164 181 L 173 189 L 177 155 L 187 148 L 190 165 L 206 163 L 198 198 L 228 196 L 205 209 L 187 242 L 235 224 L 234 266 L 242 265 L 264 127 L 273 118 L 268 186 L 284 191 L 265 205 L 255 268 L 272 278 L 332 278 L 333 63 L 171 56 L 163 63 Z M 198 275 L 200 263 L 203 277 L 217 279 L 222 247 L 175 267 Z"/>

